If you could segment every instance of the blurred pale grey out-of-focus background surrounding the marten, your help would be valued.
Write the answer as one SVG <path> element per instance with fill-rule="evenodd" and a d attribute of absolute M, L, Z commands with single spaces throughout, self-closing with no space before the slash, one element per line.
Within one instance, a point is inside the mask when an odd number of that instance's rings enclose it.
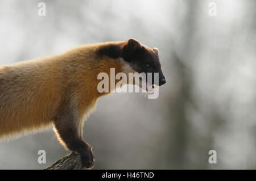
<path fill-rule="evenodd" d="M 99 99 L 84 135 L 95 169 L 256 169 L 255 17 L 253 0 L 1 0 L 0 65 L 133 37 L 159 49 L 167 83 L 158 99 Z M 44 169 L 67 153 L 53 131 L 29 134 L 0 142 L 0 169 Z"/>

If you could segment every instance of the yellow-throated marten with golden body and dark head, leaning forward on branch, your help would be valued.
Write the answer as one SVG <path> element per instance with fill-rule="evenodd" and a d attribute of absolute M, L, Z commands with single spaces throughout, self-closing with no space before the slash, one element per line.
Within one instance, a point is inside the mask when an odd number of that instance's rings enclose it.
<path fill-rule="evenodd" d="M 94 165 L 92 147 L 82 140 L 83 121 L 108 94 L 97 91 L 98 73 L 159 73 L 166 83 L 158 49 L 137 40 L 82 45 L 62 54 L 0 67 L 0 137 L 36 131 L 53 124 L 65 148 Z"/>

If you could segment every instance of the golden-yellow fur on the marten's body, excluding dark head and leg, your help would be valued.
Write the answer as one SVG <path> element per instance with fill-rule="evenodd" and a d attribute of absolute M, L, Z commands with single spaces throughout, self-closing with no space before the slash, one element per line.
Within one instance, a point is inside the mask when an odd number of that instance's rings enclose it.
<path fill-rule="evenodd" d="M 1 66 L 0 138 L 48 127 L 65 106 L 65 99 L 79 107 L 76 124 L 80 125 L 76 126 L 82 128 L 98 97 L 105 94 L 97 91 L 98 73 L 110 73 L 110 68 L 115 68 L 115 73 L 133 71 L 122 60 L 98 56 L 101 45 L 82 45 L 65 53 Z"/>

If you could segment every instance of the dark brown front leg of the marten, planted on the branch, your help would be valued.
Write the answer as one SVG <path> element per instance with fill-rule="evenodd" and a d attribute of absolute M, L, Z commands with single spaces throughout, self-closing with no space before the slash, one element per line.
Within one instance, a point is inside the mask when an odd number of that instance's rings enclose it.
<path fill-rule="evenodd" d="M 79 128 L 79 119 L 74 109 L 65 108 L 54 120 L 55 131 L 60 143 L 69 150 L 76 151 L 81 155 L 82 167 L 92 168 L 94 166 L 94 155 L 92 146 L 82 140 L 82 128 Z"/>

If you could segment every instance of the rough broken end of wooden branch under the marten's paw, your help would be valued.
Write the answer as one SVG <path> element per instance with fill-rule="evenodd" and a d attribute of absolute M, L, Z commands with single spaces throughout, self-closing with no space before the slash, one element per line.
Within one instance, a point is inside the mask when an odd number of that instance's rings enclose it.
<path fill-rule="evenodd" d="M 80 154 L 69 153 L 65 157 L 57 160 L 45 170 L 80 170 L 82 166 Z"/>

